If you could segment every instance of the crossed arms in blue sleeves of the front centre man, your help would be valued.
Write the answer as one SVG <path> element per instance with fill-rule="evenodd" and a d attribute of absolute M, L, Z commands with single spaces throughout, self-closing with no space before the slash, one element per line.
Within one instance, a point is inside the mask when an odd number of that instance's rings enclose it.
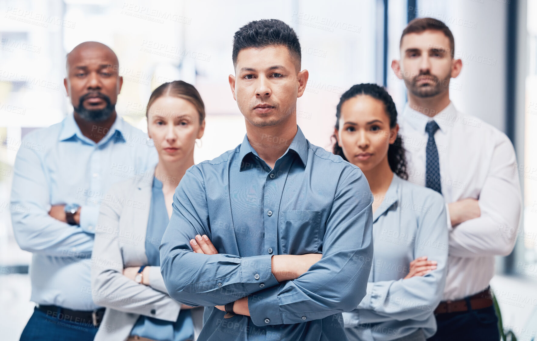
<path fill-rule="evenodd" d="M 373 255 L 372 196 L 359 169 L 340 182 L 326 220 L 322 258 L 310 263 L 294 261 L 307 255 L 237 257 L 193 252 L 192 236 L 222 238 L 211 235 L 202 179 L 194 166 L 179 183 L 160 247 L 161 272 L 173 299 L 207 307 L 243 299 L 239 306 L 235 304 L 237 313 L 246 313 L 241 304 L 247 299 L 248 313 L 258 326 L 267 320 L 270 324 L 318 320 L 358 305 L 366 293 Z M 360 197 L 365 199 L 357 200 Z"/>

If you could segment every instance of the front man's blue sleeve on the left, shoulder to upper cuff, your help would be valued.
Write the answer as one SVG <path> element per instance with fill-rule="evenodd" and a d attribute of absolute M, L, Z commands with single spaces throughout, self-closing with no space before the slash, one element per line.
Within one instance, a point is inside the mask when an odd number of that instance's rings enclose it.
<path fill-rule="evenodd" d="M 211 235 L 205 186 L 196 166 L 181 179 L 172 207 L 159 250 L 162 278 L 173 299 L 191 306 L 219 306 L 278 284 L 272 275 L 272 255 L 237 257 L 192 251 L 190 240 L 197 234 L 217 241 Z"/>

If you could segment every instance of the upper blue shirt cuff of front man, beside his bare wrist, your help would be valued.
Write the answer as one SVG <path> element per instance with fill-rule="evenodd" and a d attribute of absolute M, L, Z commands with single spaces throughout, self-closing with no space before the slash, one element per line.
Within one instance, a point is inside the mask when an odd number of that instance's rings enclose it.
<path fill-rule="evenodd" d="M 272 274 L 272 255 L 241 258 L 241 275 L 249 294 L 279 284 Z"/>

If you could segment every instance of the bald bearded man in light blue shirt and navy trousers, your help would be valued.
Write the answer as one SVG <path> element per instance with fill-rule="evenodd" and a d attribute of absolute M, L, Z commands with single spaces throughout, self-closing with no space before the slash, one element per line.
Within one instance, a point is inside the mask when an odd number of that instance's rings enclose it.
<path fill-rule="evenodd" d="M 67 55 L 66 69 L 74 112 L 27 134 L 14 164 L 11 205 L 22 209 L 11 212 L 13 231 L 33 253 L 37 303 L 21 340 L 93 340 L 98 328 L 115 328 L 100 325 L 104 308 L 90 285 L 99 206 L 114 205 L 106 196 L 113 183 L 144 176 L 157 161 L 147 135 L 115 111 L 123 79 L 112 49 L 83 42 Z"/>

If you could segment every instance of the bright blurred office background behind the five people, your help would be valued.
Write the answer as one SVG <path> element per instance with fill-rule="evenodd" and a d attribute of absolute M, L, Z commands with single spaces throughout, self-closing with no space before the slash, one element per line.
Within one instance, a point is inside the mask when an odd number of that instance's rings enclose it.
<path fill-rule="evenodd" d="M 498 257 L 492 280 L 503 326 L 519 340 L 537 329 L 537 0 L 0 0 L 0 330 L 17 340 L 30 317 L 30 254 L 13 238 L 12 167 L 21 138 L 60 122 L 72 107 L 65 56 L 78 43 L 110 46 L 124 85 L 119 115 L 147 130 L 146 103 L 159 84 L 194 84 L 207 108 L 195 162 L 242 142 L 244 119 L 231 96 L 233 34 L 251 20 L 278 18 L 302 45 L 310 80 L 297 120 L 310 142 L 330 149 L 339 96 L 357 83 L 386 85 L 398 109 L 405 87 L 391 71 L 402 29 L 415 17 L 444 21 L 455 36 L 461 75 L 451 98 L 511 138 L 524 194 L 517 246 Z M 533 20 L 532 20 L 533 19 Z M 471 146 L 469 146 L 471 148 Z"/>

